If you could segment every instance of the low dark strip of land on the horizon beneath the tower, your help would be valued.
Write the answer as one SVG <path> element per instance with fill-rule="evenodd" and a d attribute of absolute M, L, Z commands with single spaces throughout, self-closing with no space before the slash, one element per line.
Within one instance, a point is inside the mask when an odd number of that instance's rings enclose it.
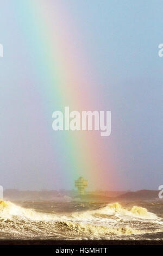
<path fill-rule="evenodd" d="M 61 190 L 61 191 L 18 191 L 18 190 L 5 190 L 5 200 L 27 200 L 27 201 L 62 201 L 71 202 L 73 200 L 81 201 L 121 201 L 121 200 L 156 200 L 159 191 L 157 190 L 139 190 L 131 191 L 95 191 L 86 192 L 85 195 L 79 196 L 77 191 Z"/>

